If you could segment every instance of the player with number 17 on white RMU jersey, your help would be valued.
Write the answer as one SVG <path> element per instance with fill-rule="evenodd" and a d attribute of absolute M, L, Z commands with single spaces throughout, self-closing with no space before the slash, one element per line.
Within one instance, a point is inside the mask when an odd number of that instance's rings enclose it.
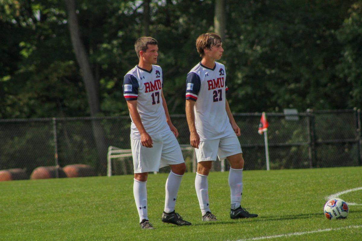
<path fill-rule="evenodd" d="M 141 37 L 135 43 L 139 63 L 123 80 L 123 95 L 132 119 L 131 149 L 134 166 L 133 194 L 142 229 L 153 229 L 147 216 L 146 182 L 148 172 L 169 165 L 166 181 L 164 223 L 191 225 L 174 211 L 178 188 L 186 165 L 177 142 L 177 129 L 171 123 L 163 96 L 163 72 L 157 63 L 158 43 Z"/>

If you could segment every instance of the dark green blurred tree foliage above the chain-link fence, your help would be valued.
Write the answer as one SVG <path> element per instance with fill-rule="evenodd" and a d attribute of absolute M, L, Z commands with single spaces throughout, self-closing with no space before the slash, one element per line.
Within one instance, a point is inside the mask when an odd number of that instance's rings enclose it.
<path fill-rule="evenodd" d="M 233 112 L 361 108 L 362 1 L 222 2 L 220 62 Z M 195 39 L 214 31 L 215 1 L 75 4 L 97 115 L 128 114 L 123 76 L 138 63 L 134 42 L 144 34 L 159 41 L 170 113 L 184 113 L 186 74 L 200 60 Z M 0 0 L 0 118 L 90 115 L 68 24 L 66 1 Z"/>

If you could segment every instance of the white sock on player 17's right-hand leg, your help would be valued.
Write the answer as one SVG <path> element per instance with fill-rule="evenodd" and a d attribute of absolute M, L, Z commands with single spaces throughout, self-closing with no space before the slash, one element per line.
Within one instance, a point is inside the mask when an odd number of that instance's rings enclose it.
<path fill-rule="evenodd" d="M 178 188 L 180 187 L 182 175 L 173 173 L 168 174 L 166 180 L 165 209 L 163 211 L 169 213 L 175 209 Z"/>

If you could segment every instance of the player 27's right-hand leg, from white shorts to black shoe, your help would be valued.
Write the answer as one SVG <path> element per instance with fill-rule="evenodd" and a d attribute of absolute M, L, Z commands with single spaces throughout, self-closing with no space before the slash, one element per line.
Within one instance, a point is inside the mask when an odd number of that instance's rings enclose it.
<path fill-rule="evenodd" d="M 243 169 L 244 158 L 241 151 L 239 140 L 235 134 L 222 138 L 219 145 L 219 159 L 227 157 L 230 163 L 230 171 L 228 183 L 230 186 L 231 210 L 230 217 L 232 219 L 257 217 L 240 206 L 241 196 L 243 194 Z"/>

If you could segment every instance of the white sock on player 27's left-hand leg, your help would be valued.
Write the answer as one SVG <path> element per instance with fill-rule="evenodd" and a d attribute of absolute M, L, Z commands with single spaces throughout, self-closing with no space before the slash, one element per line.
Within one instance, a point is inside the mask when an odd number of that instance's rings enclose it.
<path fill-rule="evenodd" d="M 197 198 L 199 199 L 202 216 L 205 215 L 207 211 L 210 212 L 208 188 L 207 176 L 196 173 L 195 189 Z"/>

